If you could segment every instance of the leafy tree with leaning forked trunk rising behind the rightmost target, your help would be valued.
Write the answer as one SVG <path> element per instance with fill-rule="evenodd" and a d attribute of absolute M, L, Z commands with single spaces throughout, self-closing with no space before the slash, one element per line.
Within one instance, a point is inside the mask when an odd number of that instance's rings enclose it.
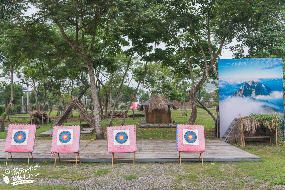
<path fill-rule="evenodd" d="M 156 52 L 160 52 L 160 58 L 164 58 L 164 62 L 168 64 L 171 60 L 169 52 L 180 52 L 188 65 L 191 77 L 189 94 L 192 103 L 189 124 L 194 124 L 197 117 L 198 104 L 195 93 L 205 83 L 211 71 L 217 68 L 217 58 L 224 46 L 243 33 L 248 24 L 260 25 L 269 20 L 278 20 L 282 17 L 280 10 L 284 10 L 283 3 L 277 0 L 170 0 L 149 2 L 149 6 L 155 11 L 147 26 L 161 32 L 160 39 L 171 38 L 170 41 L 166 41 L 166 50 Z M 266 14 L 262 14 L 264 7 Z M 278 18 L 275 18 L 276 15 Z M 201 61 L 199 55 L 202 56 Z M 195 62 L 197 58 L 199 61 Z M 196 84 L 195 68 L 201 68 L 203 74 Z"/>

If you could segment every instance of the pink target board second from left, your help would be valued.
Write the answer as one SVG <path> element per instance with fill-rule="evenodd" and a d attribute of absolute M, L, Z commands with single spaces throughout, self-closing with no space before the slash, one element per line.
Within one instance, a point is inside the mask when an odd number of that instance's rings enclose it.
<path fill-rule="evenodd" d="M 52 147 L 50 152 L 79 152 L 80 126 L 54 126 L 52 132 Z"/>

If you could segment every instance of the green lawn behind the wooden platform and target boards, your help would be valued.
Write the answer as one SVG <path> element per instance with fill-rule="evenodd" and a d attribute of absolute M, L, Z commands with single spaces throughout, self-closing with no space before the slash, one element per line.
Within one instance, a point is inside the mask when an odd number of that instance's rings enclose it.
<path fill-rule="evenodd" d="M 210 110 L 213 113 L 216 113 L 214 109 Z M 129 112 L 132 114 L 132 112 Z M 135 110 L 135 113 L 139 113 L 138 110 Z M 142 112 L 140 112 L 142 113 Z M 191 114 L 191 111 L 188 110 L 188 116 L 182 116 L 183 111 L 182 110 L 172 110 L 172 120 L 175 120 L 176 123 L 179 124 L 188 124 L 188 120 Z M 56 115 L 56 112 L 52 112 L 52 115 Z M 28 124 L 29 118 L 19 118 L 21 116 L 28 116 L 28 114 L 21 114 L 21 115 L 15 115 L 15 117 L 10 116 L 10 122 L 5 122 L 5 126 L 8 126 L 9 124 Z M 113 126 L 121 125 L 123 119 L 122 118 L 115 118 L 113 120 Z M 102 127 L 104 132 L 107 132 L 107 124 L 110 122 L 110 119 L 103 119 L 102 120 Z M 137 125 L 137 139 L 169 139 L 169 140 L 175 140 L 176 139 L 176 130 L 175 128 L 140 128 L 139 123 L 144 122 L 144 117 L 141 118 L 126 118 L 125 125 Z M 81 123 L 87 123 L 87 122 L 81 122 Z M 205 137 L 207 139 L 215 139 L 213 129 L 215 127 L 215 123 L 213 119 L 207 115 L 205 110 L 198 109 L 198 117 L 196 119 L 195 124 L 197 125 L 203 125 L 205 127 Z M 64 123 L 65 126 L 67 125 L 80 125 L 78 112 L 74 112 L 74 117 L 69 117 Z M 37 126 L 40 126 L 36 130 L 36 139 L 44 139 L 44 140 L 50 140 L 52 137 L 40 137 L 40 133 L 50 130 L 53 127 L 53 123 L 44 124 L 42 125 L 37 124 Z M 95 131 L 94 131 L 95 132 Z M 6 132 L 0 132 L 0 139 L 5 139 L 7 136 Z M 96 134 L 92 135 L 85 135 L 80 136 L 80 139 L 86 139 L 86 140 L 95 140 Z M 107 135 L 105 134 L 105 138 L 107 138 Z"/>

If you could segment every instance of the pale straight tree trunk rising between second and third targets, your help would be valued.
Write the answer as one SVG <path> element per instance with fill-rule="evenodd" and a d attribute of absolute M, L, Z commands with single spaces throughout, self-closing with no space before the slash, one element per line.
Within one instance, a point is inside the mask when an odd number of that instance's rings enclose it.
<path fill-rule="evenodd" d="M 92 99 L 94 104 L 94 120 L 95 120 L 95 130 L 96 130 L 96 139 L 105 139 L 102 123 L 101 123 L 101 114 L 100 114 L 100 104 L 98 93 L 96 89 L 96 82 L 94 76 L 93 63 L 88 64 L 90 87 L 92 92 Z"/>

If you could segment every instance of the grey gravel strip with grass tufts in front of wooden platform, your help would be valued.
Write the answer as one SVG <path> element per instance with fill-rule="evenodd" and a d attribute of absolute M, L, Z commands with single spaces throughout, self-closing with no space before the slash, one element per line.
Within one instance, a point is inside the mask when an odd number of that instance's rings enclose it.
<path fill-rule="evenodd" d="M 197 163 L 198 164 L 198 163 Z M 196 166 L 196 165 L 195 165 Z M 198 166 L 198 165 L 197 165 Z M 196 168 L 197 168 L 196 166 Z M 1 166 L 0 173 L 4 173 L 6 169 L 13 169 L 16 166 Z M 23 166 L 17 166 L 21 168 Z M 87 164 L 78 165 L 74 167 L 74 164 L 63 165 L 59 167 L 47 166 L 40 164 L 40 168 L 32 173 L 40 173 L 38 177 L 34 178 L 35 184 L 45 184 L 45 185 L 66 185 L 70 189 L 98 189 L 98 190 L 172 190 L 172 189 L 285 189 L 285 185 L 270 186 L 266 181 L 256 180 L 251 177 L 243 176 L 229 176 L 231 180 L 217 179 L 210 176 L 198 176 L 199 181 L 194 179 L 187 179 L 182 177 L 178 180 L 179 176 L 184 174 L 192 173 L 195 171 L 187 172 L 186 166 L 182 164 L 180 166 L 178 163 L 136 163 L 133 166 L 131 163 L 115 163 L 114 167 L 111 164 Z M 225 166 L 226 167 L 226 166 Z M 25 167 L 26 168 L 26 167 Z M 203 169 L 204 167 L 198 167 Z M 72 180 L 64 179 L 60 175 L 58 178 L 46 178 L 44 175 L 44 170 L 50 171 L 48 174 L 53 174 L 59 171 L 67 171 L 66 175 L 81 174 L 87 179 L 82 180 Z M 96 175 L 98 171 L 107 171 L 104 175 Z M 70 173 L 69 173 L 70 172 Z M 43 175 L 41 175 L 43 173 Z M 46 174 L 46 175 L 48 175 Z M 137 177 L 136 179 L 126 180 L 125 177 L 128 175 L 133 175 Z M 8 175 L 9 177 L 11 175 Z M 89 177 L 89 178 L 88 178 Z M 193 181 L 192 181 L 193 180 Z M 11 182 L 10 182 L 11 183 Z M 237 184 L 243 183 L 240 187 L 236 187 Z M 1 184 L 5 184 L 3 180 L 0 180 Z M 17 185 L 15 187 L 20 187 Z M 73 188 L 74 187 L 74 188 Z M 233 187 L 233 188 L 229 188 Z"/>

